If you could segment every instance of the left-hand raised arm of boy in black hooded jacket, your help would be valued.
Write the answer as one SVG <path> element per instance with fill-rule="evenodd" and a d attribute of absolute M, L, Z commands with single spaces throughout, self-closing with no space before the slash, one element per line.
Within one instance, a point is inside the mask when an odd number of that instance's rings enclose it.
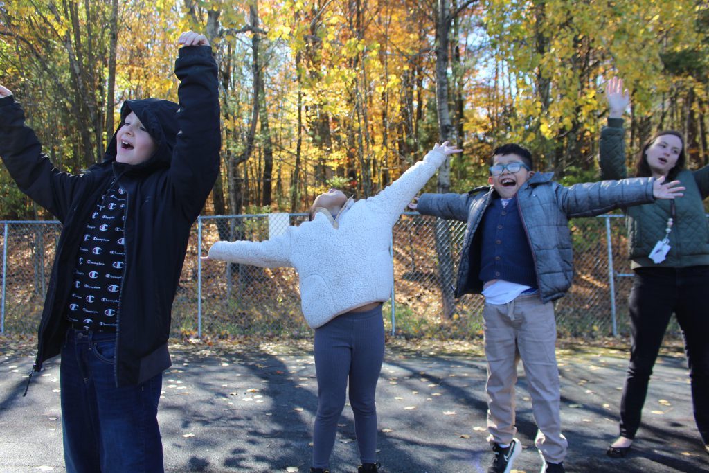
<path fill-rule="evenodd" d="M 21 191 L 64 221 L 82 177 L 61 172 L 42 152 L 12 92 L 0 86 L 0 157 Z"/>

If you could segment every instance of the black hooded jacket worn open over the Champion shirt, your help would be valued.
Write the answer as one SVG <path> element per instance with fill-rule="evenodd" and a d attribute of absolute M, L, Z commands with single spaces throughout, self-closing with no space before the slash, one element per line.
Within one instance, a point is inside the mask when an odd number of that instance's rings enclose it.
<path fill-rule="evenodd" d="M 22 108 L 0 99 L 0 156 L 18 187 L 63 224 L 42 320 L 35 371 L 60 353 L 68 323 L 64 311 L 81 235 L 94 204 L 114 177 L 128 195 L 125 272 L 116 329 L 116 386 L 140 384 L 170 366 L 167 352 L 172 301 L 190 228 L 219 172 L 217 69 L 209 46 L 179 50 L 175 74 L 179 106 L 170 101 L 126 101 L 121 124 L 135 112 L 157 143 L 140 165 L 116 162 L 116 135 L 104 161 L 83 174 L 52 166 Z M 120 128 L 120 127 L 119 127 Z"/>

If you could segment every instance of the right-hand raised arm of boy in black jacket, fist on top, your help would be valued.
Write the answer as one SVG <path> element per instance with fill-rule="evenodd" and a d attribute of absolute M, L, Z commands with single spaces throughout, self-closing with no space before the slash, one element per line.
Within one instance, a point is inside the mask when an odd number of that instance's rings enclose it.
<path fill-rule="evenodd" d="M 175 61 L 180 131 L 169 173 L 178 201 L 196 218 L 219 173 L 217 67 L 204 35 L 182 33 L 178 43 L 184 45 Z"/>

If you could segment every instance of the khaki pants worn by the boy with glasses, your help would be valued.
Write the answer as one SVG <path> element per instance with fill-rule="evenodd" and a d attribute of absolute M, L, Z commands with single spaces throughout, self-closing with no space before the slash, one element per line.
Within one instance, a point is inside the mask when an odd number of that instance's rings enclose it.
<path fill-rule="evenodd" d="M 483 309 L 488 380 L 488 430 L 491 442 L 507 444 L 515 427 L 515 383 L 521 359 L 537 423 L 535 445 L 547 462 L 564 460 L 568 443 L 559 417 L 559 368 L 554 352 L 554 305 L 539 294 L 518 296 L 508 304 Z"/>

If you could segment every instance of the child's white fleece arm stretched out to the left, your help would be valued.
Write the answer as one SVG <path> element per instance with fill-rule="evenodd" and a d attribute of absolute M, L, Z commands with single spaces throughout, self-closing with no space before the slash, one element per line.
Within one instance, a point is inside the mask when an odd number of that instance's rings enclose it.
<path fill-rule="evenodd" d="M 291 263 L 291 238 L 297 227 L 289 227 L 286 233 L 272 240 L 218 241 L 209 248 L 209 260 L 219 260 L 260 267 L 293 266 Z"/>

